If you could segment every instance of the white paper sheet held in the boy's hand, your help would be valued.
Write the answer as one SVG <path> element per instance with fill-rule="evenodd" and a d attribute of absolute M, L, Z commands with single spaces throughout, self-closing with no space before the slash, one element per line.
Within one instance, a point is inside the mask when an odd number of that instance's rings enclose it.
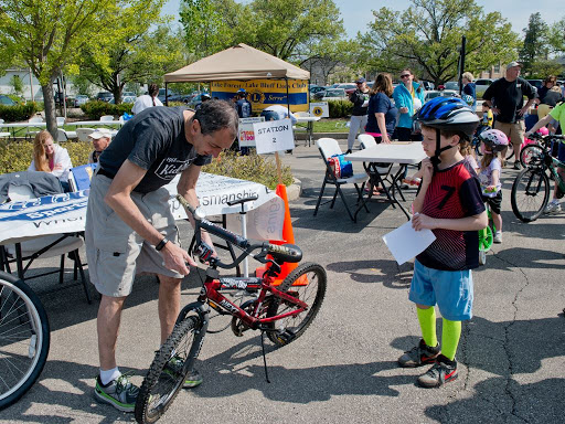
<path fill-rule="evenodd" d="M 436 240 L 436 236 L 431 230 L 414 230 L 412 221 L 408 221 L 383 235 L 383 240 L 398 265 L 402 265 L 424 252 Z"/>

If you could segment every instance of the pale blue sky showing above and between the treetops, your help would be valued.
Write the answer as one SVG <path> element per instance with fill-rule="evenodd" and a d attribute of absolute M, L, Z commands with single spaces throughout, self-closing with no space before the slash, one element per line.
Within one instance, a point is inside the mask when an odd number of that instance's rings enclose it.
<path fill-rule="evenodd" d="M 248 2 L 236 0 L 238 3 Z M 349 38 L 354 38 L 359 31 L 366 32 L 367 24 L 373 20 L 372 10 L 383 7 L 403 11 L 411 4 L 409 0 L 333 0 L 341 11 L 343 25 Z M 514 32 L 523 35 L 530 14 L 540 12 L 542 19 L 551 24 L 565 17 L 565 9 L 559 8 L 555 0 L 476 0 L 486 12 L 501 12 L 502 17 L 512 23 Z M 180 0 L 169 0 L 163 7 L 162 14 L 177 15 Z"/>

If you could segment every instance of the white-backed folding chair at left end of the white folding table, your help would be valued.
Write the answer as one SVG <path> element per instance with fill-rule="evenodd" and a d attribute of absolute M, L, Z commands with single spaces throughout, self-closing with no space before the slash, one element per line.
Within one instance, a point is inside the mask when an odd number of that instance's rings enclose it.
<path fill-rule="evenodd" d="M 323 163 L 326 165 L 326 174 L 323 177 L 322 187 L 320 189 L 320 195 L 318 197 L 318 202 L 316 203 L 316 209 L 313 211 L 313 215 L 318 213 L 318 208 L 320 206 L 323 191 L 326 190 L 327 184 L 335 186 L 335 191 L 333 193 L 333 197 L 331 200 L 328 200 L 326 203 L 331 202 L 330 209 L 333 209 L 333 205 L 335 204 L 335 199 L 338 194 L 340 195 L 341 200 L 343 201 L 343 204 L 345 205 L 345 210 L 348 211 L 349 218 L 353 222 L 355 222 L 355 218 L 351 213 L 351 210 L 348 205 L 348 202 L 345 200 L 345 194 L 343 193 L 343 190 L 341 189 L 342 186 L 352 183 L 355 187 L 355 190 L 358 192 L 358 203 L 363 197 L 363 189 L 365 187 L 365 182 L 369 178 L 366 173 L 355 173 L 352 177 L 349 178 L 335 178 L 335 174 L 333 173 L 333 170 L 331 169 L 330 162 L 328 161 L 329 158 L 331 158 L 333 155 L 342 155 L 341 148 L 338 145 L 338 141 L 333 138 L 320 138 L 316 141 L 316 146 L 318 146 L 318 150 L 320 150 L 320 155 L 322 156 Z M 361 187 L 359 187 L 361 184 Z M 364 209 L 369 212 L 369 209 L 366 205 L 364 205 Z"/>

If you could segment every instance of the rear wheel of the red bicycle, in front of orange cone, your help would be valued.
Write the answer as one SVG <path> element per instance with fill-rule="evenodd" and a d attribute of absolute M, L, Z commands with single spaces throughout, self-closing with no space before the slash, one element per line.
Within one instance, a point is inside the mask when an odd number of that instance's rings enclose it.
<path fill-rule="evenodd" d="M 305 263 L 298 266 L 282 280 L 277 288 L 308 304 L 308 309 L 297 316 L 279 319 L 273 324 L 273 329 L 277 329 L 277 331 L 269 331 L 268 338 L 275 344 L 288 344 L 306 331 L 322 305 L 326 286 L 326 269 L 315 263 Z M 294 309 L 296 309 L 296 306 L 276 298 L 269 306 L 267 317 L 281 315 Z"/>

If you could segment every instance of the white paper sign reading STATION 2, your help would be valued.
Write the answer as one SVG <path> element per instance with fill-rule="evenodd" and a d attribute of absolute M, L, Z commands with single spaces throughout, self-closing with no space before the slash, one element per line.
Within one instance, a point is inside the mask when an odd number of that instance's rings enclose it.
<path fill-rule="evenodd" d="M 290 119 L 253 124 L 253 130 L 255 131 L 257 155 L 291 150 L 295 148 L 295 135 Z"/>

